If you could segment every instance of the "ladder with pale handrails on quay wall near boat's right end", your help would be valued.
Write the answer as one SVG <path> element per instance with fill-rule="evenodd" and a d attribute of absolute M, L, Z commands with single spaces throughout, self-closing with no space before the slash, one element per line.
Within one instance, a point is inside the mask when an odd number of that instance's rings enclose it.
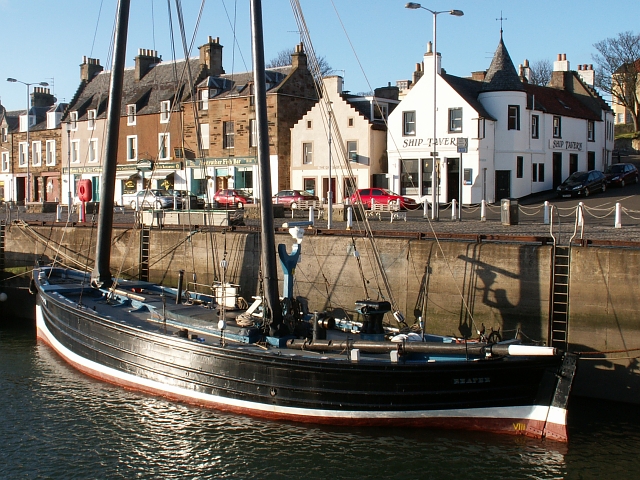
<path fill-rule="evenodd" d="M 578 233 L 578 227 L 584 228 L 582 216 L 576 211 L 576 222 L 573 235 L 567 244 L 560 242 L 560 222 L 558 234 L 553 233 L 553 210 L 551 207 L 550 232 L 553 238 L 551 268 L 551 302 L 549 312 L 549 344 L 567 351 L 569 346 L 569 285 L 571 279 L 571 244 Z M 578 209 L 581 207 L 578 206 Z M 583 231 L 580 232 L 582 238 Z"/>

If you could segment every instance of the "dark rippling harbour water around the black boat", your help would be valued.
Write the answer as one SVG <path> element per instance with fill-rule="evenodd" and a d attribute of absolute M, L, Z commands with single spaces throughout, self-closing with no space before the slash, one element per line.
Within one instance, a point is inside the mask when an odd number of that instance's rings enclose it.
<path fill-rule="evenodd" d="M 635 479 L 640 408 L 573 399 L 570 442 L 278 423 L 89 378 L 0 329 L 2 479 Z"/>

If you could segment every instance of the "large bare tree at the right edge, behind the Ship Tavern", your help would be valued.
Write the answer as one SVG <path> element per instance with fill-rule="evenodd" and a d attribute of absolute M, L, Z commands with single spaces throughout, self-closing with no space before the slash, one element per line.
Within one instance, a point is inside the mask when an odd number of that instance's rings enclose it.
<path fill-rule="evenodd" d="M 593 46 L 598 51 L 593 55 L 599 67 L 596 86 L 627 109 L 635 132 L 640 131 L 640 35 L 623 32 Z"/>

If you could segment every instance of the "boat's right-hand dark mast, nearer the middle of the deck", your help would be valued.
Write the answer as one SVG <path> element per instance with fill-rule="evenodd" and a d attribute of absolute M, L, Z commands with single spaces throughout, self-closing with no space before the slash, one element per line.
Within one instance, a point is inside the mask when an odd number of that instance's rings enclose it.
<path fill-rule="evenodd" d="M 264 67 L 264 43 L 262 39 L 262 2 L 251 0 L 251 40 L 253 48 L 253 83 L 256 105 L 256 130 L 258 140 L 258 172 L 260 176 L 260 218 L 262 239 L 262 266 L 266 307 L 271 313 L 270 335 L 279 336 L 282 331 L 282 309 L 278 293 L 278 269 L 276 266 L 276 239 L 271 205 L 271 165 L 269 162 L 269 126 L 267 124 L 267 87 Z M 267 312 L 267 314 L 268 314 Z"/>

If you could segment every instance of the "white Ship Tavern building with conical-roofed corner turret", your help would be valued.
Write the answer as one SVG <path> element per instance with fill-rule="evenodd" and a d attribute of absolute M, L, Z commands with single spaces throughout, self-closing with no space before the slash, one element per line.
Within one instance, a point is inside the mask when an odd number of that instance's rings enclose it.
<path fill-rule="evenodd" d="M 516 72 L 502 38 L 489 69 L 472 78 L 448 75 L 438 57 L 434 139 L 428 51 L 424 75 L 389 116 L 390 188 L 430 201 L 434 152 L 440 203 L 459 200 L 461 184 L 464 204 L 493 203 L 550 190 L 577 170 L 603 170 L 613 150 L 613 114 L 589 79 L 560 58 L 549 85 L 539 87 L 527 83 L 527 68 Z M 458 152 L 461 138 L 466 153 Z"/>

